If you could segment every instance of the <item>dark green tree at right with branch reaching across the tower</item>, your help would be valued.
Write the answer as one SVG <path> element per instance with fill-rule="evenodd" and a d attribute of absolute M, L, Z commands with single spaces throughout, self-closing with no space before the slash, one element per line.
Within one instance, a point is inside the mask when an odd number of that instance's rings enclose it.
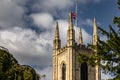
<path fill-rule="evenodd" d="M 120 0 L 117 1 L 117 4 L 120 9 Z M 120 17 L 115 16 L 113 24 L 116 26 L 110 25 L 109 31 L 98 27 L 99 34 L 104 36 L 106 40 L 98 38 L 96 46 L 90 45 L 92 50 L 96 50 L 97 55 L 79 54 L 78 59 L 79 62 L 87 62 L 92 66 L 99 65 L 105 73 L 116 76 L 113 80 L 120 80 Z"/>

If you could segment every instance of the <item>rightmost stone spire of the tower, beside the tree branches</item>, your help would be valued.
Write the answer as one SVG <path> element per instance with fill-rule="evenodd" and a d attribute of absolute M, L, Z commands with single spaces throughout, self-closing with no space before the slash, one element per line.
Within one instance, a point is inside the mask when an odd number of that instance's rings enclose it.
<path fill-rule="evenodd" d="M 97 45 L 98 31 L 97 31 L 97 22 L 94 18 L 94 27 L 93 27 L 93 45 Z"/>

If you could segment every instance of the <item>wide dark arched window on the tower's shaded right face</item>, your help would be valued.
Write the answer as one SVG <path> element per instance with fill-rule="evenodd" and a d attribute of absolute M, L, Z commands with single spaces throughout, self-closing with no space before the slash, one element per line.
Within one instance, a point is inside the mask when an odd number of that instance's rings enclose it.
<path fill-rule="evenodd" d="M 87 63 L 81 64 L 81 80 L 88 80 L 88 66 Z"/>

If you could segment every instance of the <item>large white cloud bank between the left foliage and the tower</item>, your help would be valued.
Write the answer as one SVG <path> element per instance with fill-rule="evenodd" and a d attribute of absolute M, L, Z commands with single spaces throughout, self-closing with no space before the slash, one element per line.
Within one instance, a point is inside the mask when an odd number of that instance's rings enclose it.
<path fill-rule="evenodd" d="M 31 29 L 15 27 L 0 31 L 0 45 L 8 48 L 21 64 L 51 65 L 50 32 L 37 34 Z"/>

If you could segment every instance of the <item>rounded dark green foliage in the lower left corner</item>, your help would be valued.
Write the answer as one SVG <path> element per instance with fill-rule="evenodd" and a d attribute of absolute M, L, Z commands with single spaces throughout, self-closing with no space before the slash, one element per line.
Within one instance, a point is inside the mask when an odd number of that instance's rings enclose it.
<path fill-rule="evenodd" d="M 19 65 L 9 52 L 0 50 L 0 80 L 39 80 L 35 70 Z"/>

